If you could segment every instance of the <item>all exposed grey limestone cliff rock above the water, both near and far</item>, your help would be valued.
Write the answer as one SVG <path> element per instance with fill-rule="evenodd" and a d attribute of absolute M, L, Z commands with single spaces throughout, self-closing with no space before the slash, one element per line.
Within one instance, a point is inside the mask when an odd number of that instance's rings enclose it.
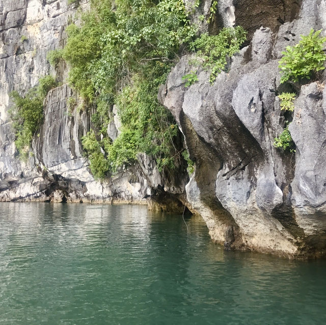
<path fill-rule="evenodd" d="M 174 115 L 196 163 L 189 180 L 183 163 L 173 174 L 159 172 L 140 154 L 133 166 L 96 181 L 80 138 L 91 126 L 91 109 L 64 83 L 67 67 L 46 61 L 65 44 L 65 26 L 75 5 L 66 0 L 4 0 L 0 4 L 0 200 L 53 202 L 137 202 L 151 209 L 200 214 L 211 238 L 226 249 L 252 249 L 284 256 L 326 253 L 326 90 L 319 81 L 280 85 L 278 61 L 311 28 L 326 30 L 326 2 L 220 0 L 208 24 L 211 0 L 185 0 L 200 32 L 242 25 L 248 46 L 232 58 L 228 73 L 209 84 L 207 71 L 184 87 L 193 70 L 185 55 L 162 85 L 159 100 Z M 82 9 L 89 2 L 79 2 Z M 205 20 L 202 19 L 205 18 Z M 262 26 L 261 26 L 262 25 Z M 41 76 L 57 73 L 63 84 L 44 101 L 44 120 L 27 161 L 17 157 L 8 110 L 13 90 L 24 94 Z M 277 94 L 298 94 L 293 114 L 280 110 Z M 68 99 L 75 97 L 75 108 Z M 275 149 L 274 138 L 289 121 L 295 153 Z M 107 134 L 121 123 L 112 108 Z"/>

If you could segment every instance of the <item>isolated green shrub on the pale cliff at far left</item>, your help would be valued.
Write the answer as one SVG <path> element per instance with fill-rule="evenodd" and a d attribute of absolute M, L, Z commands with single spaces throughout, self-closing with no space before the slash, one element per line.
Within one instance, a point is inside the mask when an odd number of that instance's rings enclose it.
<path fill-rule="evenodd" d="M 16 147 L 21 157 L 26 158 L 34 133 L 39 129 L 43 118 L 43 101 L 53 87 L 55 78 L 45 76 L 37 87 L 31 88 L 24 97 L 17 91 L 11 93 L 15 106 L 11 109 L 13 127 L 16 131 Z"/>

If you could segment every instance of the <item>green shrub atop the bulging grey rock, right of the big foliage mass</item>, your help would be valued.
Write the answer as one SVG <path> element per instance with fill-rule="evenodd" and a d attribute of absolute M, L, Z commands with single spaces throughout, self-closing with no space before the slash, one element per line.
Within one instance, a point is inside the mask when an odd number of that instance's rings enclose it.
<path fill-rule="evenodd" d="M 241 26 L 223 28 L 218 35 L 203 34 L 194 41 L 192 46 L 197 50 L 197 60 L 193 63 L 200 64 L 204 69 L 210 70 L 210 83 L 216 76 L 225 70 L 227 58 L 240 50 L 246 40 L 247 32 Z"/>

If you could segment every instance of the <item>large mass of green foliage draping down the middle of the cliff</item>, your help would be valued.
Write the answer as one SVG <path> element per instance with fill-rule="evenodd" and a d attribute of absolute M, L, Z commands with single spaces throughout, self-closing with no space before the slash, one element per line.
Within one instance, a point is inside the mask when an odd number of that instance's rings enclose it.
<path fill-rule="evenodd" d="M 118 104 L 122 130 L 113 143 L 106 139 L 101 146 L 103 158 L 113 172 L 139 152 L 154 155 L 159 168 L 172 167 L 179 152 L 173 143 L 178 128 L 171 113 L 158 103 L 157 93 L 185 48 L 182 45 L 196 33 L 183 1 L 116 0 L 112 10 L 110 0 L 93 0 L 91 7 L 82 14 L 80 27 L 67 27 L 62 55 L 71 65 L 70 84 L 89 103 L 96 103 L 98 112 L 100 107 Z M 99 123 L 105 128 L 103 114 L 94 119 L 99 129 Z M 93 173 L 102 176 L 90 160 Z"/>

